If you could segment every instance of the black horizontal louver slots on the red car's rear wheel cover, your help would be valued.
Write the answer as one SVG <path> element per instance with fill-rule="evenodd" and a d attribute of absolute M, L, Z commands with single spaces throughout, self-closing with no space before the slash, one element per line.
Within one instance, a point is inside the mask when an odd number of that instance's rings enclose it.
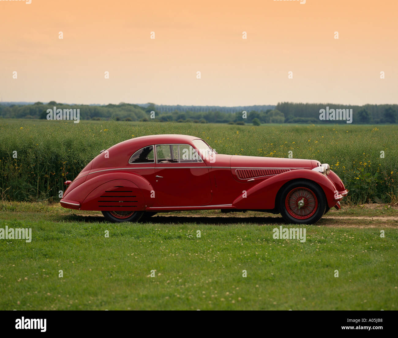
<path fill-rule="evenodd" d="M 106 190 L 98 200 L 98 206 L 101 208 L 134 208 L 137 207 L 137 196 L 134 195 L 131 187 L 113 187 Z"/>

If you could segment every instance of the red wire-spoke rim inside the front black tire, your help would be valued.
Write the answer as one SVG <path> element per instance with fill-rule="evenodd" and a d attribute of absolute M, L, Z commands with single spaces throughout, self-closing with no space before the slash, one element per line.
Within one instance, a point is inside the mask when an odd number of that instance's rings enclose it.
<path fill-rule="evenodd" d="M 318 199 L 310 189 L 297 187 L 287 194 L 285 207 L 292 217 L 304 220 L 315 213 Z"/>

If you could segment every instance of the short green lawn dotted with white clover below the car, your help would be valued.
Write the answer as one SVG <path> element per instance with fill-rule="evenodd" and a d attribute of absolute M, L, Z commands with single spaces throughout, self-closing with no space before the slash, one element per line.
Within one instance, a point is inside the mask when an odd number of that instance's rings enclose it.
<path fill-rule="evenodd" d="M 32 228 L 31 243 L 0 240 L 2 310 L 398 308 L 396 220 L 324 219 L 300 243 L 273 239 L 273 228 L 297 227 L 281 218 L 111 224 L 97 212 L 38 205 L 2 205 L 0 228 Z"/>

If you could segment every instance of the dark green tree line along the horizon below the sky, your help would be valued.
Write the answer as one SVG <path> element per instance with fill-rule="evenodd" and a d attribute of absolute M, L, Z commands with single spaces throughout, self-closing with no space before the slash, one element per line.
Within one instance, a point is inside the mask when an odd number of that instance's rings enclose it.
<path fill-rule="evenodd" d="M 280 102 L 276 106 L 166 106 L 147 104 L 82 105 L 51 101 L 27 104 L 18 102 L 0 104 L 0 118 L 46 119 L 47 109 L 79 109 L 81 120 L 118 121 L 176 121 L 194 123 L 254 124 L 262 123 L 346 123 L 344 120 L 320 120 L 320 110 L 352 109 L 354 124 L 395 124 L 398 122 L 397 104 L 341 104 Z"/>

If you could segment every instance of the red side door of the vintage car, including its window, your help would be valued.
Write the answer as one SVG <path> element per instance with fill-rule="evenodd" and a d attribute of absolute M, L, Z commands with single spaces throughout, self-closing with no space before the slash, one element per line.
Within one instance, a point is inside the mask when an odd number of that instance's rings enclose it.
<path fill-rule="evenodd" d="M 165 207 L 205 205 L 211 201 L 209 169 L 187 144 L 156 145 L 155 197 Z"/>

